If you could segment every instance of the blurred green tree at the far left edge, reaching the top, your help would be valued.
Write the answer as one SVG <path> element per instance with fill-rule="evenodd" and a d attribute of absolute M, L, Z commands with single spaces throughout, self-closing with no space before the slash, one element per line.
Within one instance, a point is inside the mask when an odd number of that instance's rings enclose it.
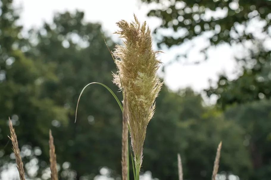
<path fill-rule="evenodd" d="M 57 80 L 51 67 L 25 57 L 25 49 L 19 48 L 22 27 L 16 25 L 19 16 L 12 5 L 12 0 L 0 1 L 0 165 L 9 160 L 12 152 L 11 143 L 6 146 L 8 117 L 15 126 L 20 147 L 28 144 L 43 152 L 48 152 L 51 122 L 57 119 L 65 125 L 67 120 L 63 107 L 42 96 L 44 83 Z"/>

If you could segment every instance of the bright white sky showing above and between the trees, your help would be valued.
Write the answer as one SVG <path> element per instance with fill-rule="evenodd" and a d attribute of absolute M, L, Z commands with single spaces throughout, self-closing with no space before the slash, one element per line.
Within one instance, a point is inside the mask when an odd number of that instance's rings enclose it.
<path fill-rule="evenodd" d="M 154 29 L 159 25 L 159 20 L 146 17 L 147 7 L 139 8 L 140 0 L 14 0 L 23 5 L 21 23 L 26 27 L 39 27 L 43 21 L 50 22 L 54 12 L 75 9 L 85 12 L 85 19 L 90 22 L 101 22 L 103 29 L 112 34 L 117 30 L 115 23 L 121 19 L 130 21 L 135 13 L 140 21 L 146 20 L 148 25 Z M 114 39 L 116 36 L 113 37 Z M 188 54 L 188 62 L 200 59 L 197 49 L 204 46 L 205 39 L 199 38 L 194 41 L 195 47 Z M 171 50 L 165 50 L 160 55 L 163 63 L 172 60 L 176 53 L 186 52 L 188 46 L 178 46 Z M 191 86 L 200 91 L 208 87 L 208 79 L 217 79 L 217 74 L 226 71 L 229 74 L 236 67 L 233 61 L 233 52 L 229 46 L 219 47 L 209 51 L 209 59 L 200 65 L 182 65 L 173 63 L 166 68 L 165 83 L 172 89 Z"/>

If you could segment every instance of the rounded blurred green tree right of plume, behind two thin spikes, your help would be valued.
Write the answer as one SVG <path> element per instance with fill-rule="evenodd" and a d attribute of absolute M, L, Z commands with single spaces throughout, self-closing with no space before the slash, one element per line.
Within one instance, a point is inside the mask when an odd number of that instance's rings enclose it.
<path fill-rule="evenodd" d="M 251 164 L 242 145 L 244 130 L 202 103 L 201 96 L 191 89 L 174 93 L 162 88 L 147 129 L 143 170 L 151 171 L 153 177 L 161 180 L 178 179 L 177 153 L 180 153 L 184 179 L 208 180 L 217 145 L 223 141 L 220 172 L 233 173 L 241 179 L 249 176 Z"/>

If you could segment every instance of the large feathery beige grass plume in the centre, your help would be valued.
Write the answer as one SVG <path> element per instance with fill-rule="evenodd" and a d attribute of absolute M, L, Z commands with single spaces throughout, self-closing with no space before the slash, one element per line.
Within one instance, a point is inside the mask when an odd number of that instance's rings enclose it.
<path fill-rule="evenodd" d="M 157 53 L 160 51 L 153 50 L 150 28 L 146 22 L 140 24 L 135 15 L 131 23 L 120 20 L 116 24 L 120 30 L 115 34 L 124 38 L 124 46 L 117 45 L 113 52 L 118 68 L 118 73 L 113 74 L 113 82 L 123 88 L 127 96 L 131 144 L 139 173 L 146 128 L 163 84 L 157 76 L 161 64 Z"/>

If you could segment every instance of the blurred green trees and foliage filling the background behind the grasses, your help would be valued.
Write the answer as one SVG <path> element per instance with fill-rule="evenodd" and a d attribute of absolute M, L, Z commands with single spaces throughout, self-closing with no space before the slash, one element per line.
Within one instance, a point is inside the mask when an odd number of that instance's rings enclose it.
<path fill-rule="evenodd" d="M 243 65 L 237 79 L 222 74 L 217 85 L 206 90 L 207 95 L 218 96 L 213 106 L 205 106 L 201 95 L 190 88 L 173 92 L 162 87 L 148 125 L 142 170 L 151 171 L 160 180 L 177 179 L 180 153 L 184 179 L 209 180 L 222 140 L 220 174 L 228 179 L 231 174 L 240 179 L 270 179 L 271 59 L 270 47 L 264 43 L 271 35 L 271 1 L 170 2 L 170 7 L 153 9 L 148 14 L 163 20 L 154 36 L 162 28 L 178 31 L 181 27 L 187 33 L 179 39 L 163 36 L 160 41 L 156 39 L 158 45 L 171 47 L 214 30 L 212 46 L 245 46 L 247 42 L 253 46 L 240 52 L 245 53 L 242 58 L 236 57 Z M 238 4 L 236 9 L 232 3 Z M 46 179 L 49 129 L 61 179 L 93 179 L 104 166 L 111 170 L 110 176 L 120 177 L 122 119 L 112 95 L 98 85 L 87 88 L 74 123 L 84 85 L 102 82 L 118 91 L 111 72 L 116 67 L 104 39 L 110 50 L 114 42 L 100 24 L 84 23 L 84 12 L 80 11 L 56 14 L 53 24 L 44 23 L 23 36 L 22 27 L 16 23 L 19 15 L 11 4 L 12 0 L 0 1 L 0 171 L 15 161 L 11 143 L 7 144 L 10 116 L 30 179 Z M 201 19 L 208 9 L 225 8 L 228 12 L 223 18 Z M 235 28 L 240 24 L 246 27 L 255 18 L 265 22 L 261 31 L 265 38 Z M 122 96 L 117 95 L 119 99 Z"/>

